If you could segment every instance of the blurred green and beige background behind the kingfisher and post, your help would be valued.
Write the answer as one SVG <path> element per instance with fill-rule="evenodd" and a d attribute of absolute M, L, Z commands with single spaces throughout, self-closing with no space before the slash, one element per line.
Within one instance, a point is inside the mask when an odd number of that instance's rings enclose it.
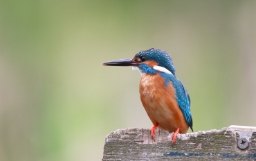
<path fill-rule="evenodd" d="M 101 160 L 104 138 L 151 128 L 140 74 L 101 63 L 160 48 L 194 131 L 255 126 L 256 1 L 0 0 L 0 160 Z"/>

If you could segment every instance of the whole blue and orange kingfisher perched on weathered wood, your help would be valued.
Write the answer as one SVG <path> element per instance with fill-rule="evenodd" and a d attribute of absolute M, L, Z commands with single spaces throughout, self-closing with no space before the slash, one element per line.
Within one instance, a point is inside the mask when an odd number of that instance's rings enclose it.
<path fill-rule="evenodd" d="M 140 100 L 153 123 L 150 134 L 154 139 L 157 129 L 165 129 L 172 135 L 172 144 L 178 133 L 193 131 L 190 111 L 190 95 L 176 78 L 175 67 L 170 54 L 151 48 L 138 52 L 134 58 L 102 63 L 109 66 L 131 66 L 141 74 Z"/>

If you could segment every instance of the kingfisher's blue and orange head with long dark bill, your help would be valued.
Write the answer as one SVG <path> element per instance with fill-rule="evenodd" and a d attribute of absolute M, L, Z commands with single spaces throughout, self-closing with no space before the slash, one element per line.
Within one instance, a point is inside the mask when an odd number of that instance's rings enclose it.
<path fill-rule="evenodd" d="M 149 49 L 138 52 L 134 58 L 120 59 L 102 63 L 109 66 L 131 66 L 141 74 L 155 74 L 164 72 L 175 76 L 175 68 L 170 54 L 159 49 Z"/>

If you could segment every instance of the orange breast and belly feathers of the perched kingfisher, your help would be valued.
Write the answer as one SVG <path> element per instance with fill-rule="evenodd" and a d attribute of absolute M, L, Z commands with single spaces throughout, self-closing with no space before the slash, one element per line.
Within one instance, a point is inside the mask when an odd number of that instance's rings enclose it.
<path fill-rule="evenodd" d="M 176 103 L 175 89 L 170 82 L 168 87 L 159 74 L 145 74 L 140 79 L 140 100 L 153 125 L 169 132 L 180 128 L 180 133 L 188 131 L 188 123 Z"/>

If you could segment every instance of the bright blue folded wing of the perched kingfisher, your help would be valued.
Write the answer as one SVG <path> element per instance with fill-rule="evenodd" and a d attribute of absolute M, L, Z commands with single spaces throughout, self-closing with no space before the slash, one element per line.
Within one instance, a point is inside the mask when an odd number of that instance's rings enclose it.
<path fill-rule="evenodd" d="M 174 86 L 176 90 L 176 99 L 179 104 L 179 107 L 181 108 L 181 111 L 183 113 L 183 116 L 188 122 L 188 126 L 193 131 L 193 120 L 192 115 L 190 111 L 190 95 L 187 92 L 187 89 L 185 89 L 184 85 L 172 74 L 161 74 L 165 78 L 165 85 L 169 81 L 172 82 L 172 85 Z"/>

